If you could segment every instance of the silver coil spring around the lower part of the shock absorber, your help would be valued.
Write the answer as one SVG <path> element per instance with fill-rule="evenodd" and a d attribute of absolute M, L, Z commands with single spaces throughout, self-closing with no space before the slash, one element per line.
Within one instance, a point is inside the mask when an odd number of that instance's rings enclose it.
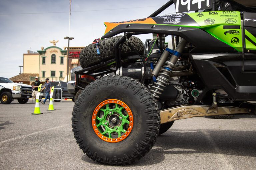
<path fill-rule="evenodd" d="M 157 82 L 154 83 L 154 86 L 152 86 L 152 89 L 150 90 L 155 98 L 160 98 L 159 95 L 162 94 L 160 91 L 164 91 L 163 88 L 168 84 L 170 74 L 172 73 L 171 70 L 174 67 L 173 64 L 171 65 L 169 61 L 166 61 L 163 69 L 160 70 L 160 73 L 156 78 Z"/>

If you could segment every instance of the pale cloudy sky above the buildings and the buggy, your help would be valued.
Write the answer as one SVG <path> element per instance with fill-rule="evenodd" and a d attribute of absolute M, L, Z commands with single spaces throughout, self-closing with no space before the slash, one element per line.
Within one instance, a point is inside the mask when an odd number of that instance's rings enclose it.
<path fill-rule="evenodd" d="M 157 3 L 156 3 L 157 2 Z M 72 0 L 70 46 L 87 46 L 104 34 L 103 22 L 145 18 L 168 0 Z M 174 12 L 167 8 L 161 14 Z M 161 15 L 160 14 L 160 15 Z M 19 74 L 23 53 L 49 47 L 67 46 L 69 0 L 1 0 L 0 1 L 0 77 Z M 147 35 L 150 36 L 150 35 Z M 152 37 L 152 36 L 151 36 Z M 151 38 L 149 37 L 149 38 Z M 142 41 L 146 36 L 140 36 Z"/>

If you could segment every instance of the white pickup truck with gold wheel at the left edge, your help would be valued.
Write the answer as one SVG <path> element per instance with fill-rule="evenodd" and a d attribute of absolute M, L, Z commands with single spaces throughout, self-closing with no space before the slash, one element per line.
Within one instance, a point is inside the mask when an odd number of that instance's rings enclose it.
<path fill-rule="evenodd" d="M 32 86 L 14 83 L 8 78 L 0 77 L 0 101 L 2 104 L 10 104 L 14 99 L 24 104 L 32 95 Z"/>

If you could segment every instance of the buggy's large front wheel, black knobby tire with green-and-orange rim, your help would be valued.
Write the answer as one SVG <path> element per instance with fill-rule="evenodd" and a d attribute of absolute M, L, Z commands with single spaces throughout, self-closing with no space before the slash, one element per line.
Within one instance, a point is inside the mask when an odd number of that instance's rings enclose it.
<path fill-rule="evenodd" d="M 104 164 L 139 160 L 153 147 L 160 128 L 159 110 L 150 91 L 125 76 L 107 76 L 89 84 L 72 115 L 79 147 Z"/>

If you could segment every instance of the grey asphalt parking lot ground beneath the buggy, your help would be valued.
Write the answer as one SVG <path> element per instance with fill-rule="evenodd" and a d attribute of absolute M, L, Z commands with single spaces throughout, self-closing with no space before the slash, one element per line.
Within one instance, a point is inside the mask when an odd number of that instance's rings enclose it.
<path fill-rule="evenodd" d="M 92 161 L 75 142 L 74 102 L 31 115 L 34 103 L 0 104 L 0 169 L 256 169 L 256 115 L 231 120 L 197 117 L 176 121 L 152 150 L 129 166 Z"/>

